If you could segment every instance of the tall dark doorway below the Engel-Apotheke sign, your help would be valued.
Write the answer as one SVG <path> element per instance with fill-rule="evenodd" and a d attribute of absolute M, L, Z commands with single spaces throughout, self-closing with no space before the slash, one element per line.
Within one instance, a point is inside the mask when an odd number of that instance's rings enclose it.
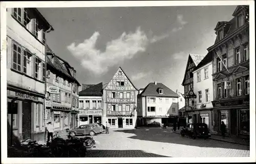
<path fill-rule="evenodd" d="M 31 139 L 31 102 L 22 102 L 22 136 L 23 140 Z"/>

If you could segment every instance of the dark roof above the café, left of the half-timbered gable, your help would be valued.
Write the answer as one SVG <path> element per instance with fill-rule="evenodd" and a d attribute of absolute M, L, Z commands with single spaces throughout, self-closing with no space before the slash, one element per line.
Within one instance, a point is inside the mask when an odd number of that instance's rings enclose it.
<path fill-rule="evenodd" d="M 102 82 L 79 92 L 79 96 L 102 96 Z"/>

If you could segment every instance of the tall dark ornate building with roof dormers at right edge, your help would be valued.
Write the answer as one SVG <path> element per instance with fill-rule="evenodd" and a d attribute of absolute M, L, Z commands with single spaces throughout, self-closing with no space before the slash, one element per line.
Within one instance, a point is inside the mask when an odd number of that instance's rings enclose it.
<path fill-rule="evenodd" d="M 226 124 L 233 136 L 249 136 L 249 22 L 248 6 L 238 6 L 230 21 L 216 25 L 216 41 L 207 50 L 212 52 L 214 88 L 214 129 Z"/>

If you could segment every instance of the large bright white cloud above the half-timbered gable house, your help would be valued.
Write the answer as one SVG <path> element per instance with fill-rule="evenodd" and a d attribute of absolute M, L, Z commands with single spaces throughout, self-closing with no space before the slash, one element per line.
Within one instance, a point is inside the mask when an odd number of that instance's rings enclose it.
<path fill-rule="evenodd" d="M 144 52 L 149 43 L 145 33 L 137 28 L 135 33 L 124 32 L 119 38 L 106 43 L 106 49 L 102 52 L 95 48 L 99 36 L 99 32 L 95 32 L 82 43 L 71 43 L 67 47 L 73 56 L 80 60 L 83 68 L 95 74 L 105 73 L 109 67 L 134 58 L 138 52 Z"/>

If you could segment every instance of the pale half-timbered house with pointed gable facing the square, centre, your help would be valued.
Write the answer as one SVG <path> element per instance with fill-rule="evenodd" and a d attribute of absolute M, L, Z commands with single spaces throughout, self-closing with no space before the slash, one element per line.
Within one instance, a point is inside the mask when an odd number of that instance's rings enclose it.
<path fill-rule="evenodd" d="M 121 67 L 106 85 L 103 85 L 103 124 L 111 127 L 134 128 L 137 119 L 138 90 Z"/>

